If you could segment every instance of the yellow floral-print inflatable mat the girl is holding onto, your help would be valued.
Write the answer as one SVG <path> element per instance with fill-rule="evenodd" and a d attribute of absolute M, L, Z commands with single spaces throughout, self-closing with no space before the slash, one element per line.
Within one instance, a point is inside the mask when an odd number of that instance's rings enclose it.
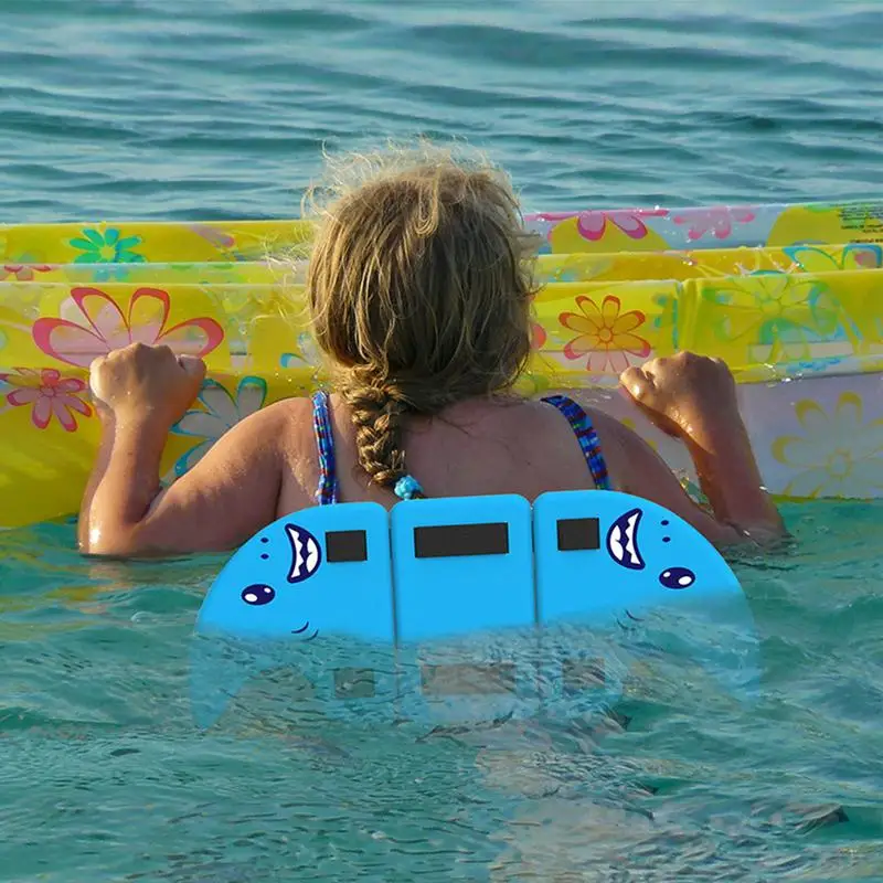
<path fill-rule="evenodd" d="M 617 252 L 623 236 L 640 245 L 637 224 L 583 214 L 592 216 L 582 231 L 578 215 L 528 217 L 549 249 L 539 262 L 545 284 L 525 393 L 586 390 L 689 478 L 682 447 L 613 387 L 627 365 L 651 355 L 720 355 L 736 372 L 770 490 L 883 496 L 880 246 L 834 241 L 850 232 L 840 209 L 797 206 L 766 235 L 735 243 L 717 235 L 720 224 L 702 242 L 701 224 L 643 219 L 648 236 L 651 222 L 657 233 L 663 221 L 681 231 L 675 253 L 661 234 L 658 252 Z M 852 217 L 864 226 L 851 232 L 873 233 L 870 210 Z M 740 223 L 732 220 L 731 233 Z M 560 224 L 577 224 L 603 251 L 579 253 L 555 233 Z M 209 379 L 166 451 L 167 480 L 238 419 L 320 384 L 304 310 L 308 242 L 297 221 L 1 228 L 0 526 L 76 511 L 98 438 L 87 389 L 96 355 L 141 340 L 205 358 Z M 555 243 L 571 251 L 553 251 Z M 690 272 L 674 272 L 675 263 Z"/>

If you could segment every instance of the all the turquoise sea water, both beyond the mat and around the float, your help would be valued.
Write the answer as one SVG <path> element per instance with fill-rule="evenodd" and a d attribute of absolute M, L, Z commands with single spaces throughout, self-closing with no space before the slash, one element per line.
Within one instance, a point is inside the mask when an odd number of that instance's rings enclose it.
<path fill-rule="evenodd" d="M 292 6 L 0 0 L 0 222 L 294 214 L 323 141 L 416 132 L 529 209 L 883 184 L 875 2 Z M 883 507 L 785 511 L 797 546 L 738 564 L 758 706 L 660 663 L 604 738 L 292 728 L 272 684 L 200 735 L 221 562 L 0 532 L 0 879 L 881 880 Z"/>

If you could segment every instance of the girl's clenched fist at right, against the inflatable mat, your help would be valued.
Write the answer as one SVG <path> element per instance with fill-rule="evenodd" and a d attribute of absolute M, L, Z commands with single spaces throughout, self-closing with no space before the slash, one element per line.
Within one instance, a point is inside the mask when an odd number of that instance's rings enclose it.
<path fill-rule="evenodd" d="M 629 368 L 619 382 L 653 425 L 675 437 L 695 439 L 742 421 L 735 380 L 721 359 L 680 352 Z"/>

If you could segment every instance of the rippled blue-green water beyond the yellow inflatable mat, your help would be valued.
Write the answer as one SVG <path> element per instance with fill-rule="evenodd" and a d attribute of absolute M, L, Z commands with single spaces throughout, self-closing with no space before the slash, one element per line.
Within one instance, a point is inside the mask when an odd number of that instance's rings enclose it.
<path fill-rule="evenodd" d="M 421 132 L 487 149 L 529 209 L 883 187 L 862 2 L 7 0 L 3 17 L 2 222 L 292 214 L 323 142 Z"/>

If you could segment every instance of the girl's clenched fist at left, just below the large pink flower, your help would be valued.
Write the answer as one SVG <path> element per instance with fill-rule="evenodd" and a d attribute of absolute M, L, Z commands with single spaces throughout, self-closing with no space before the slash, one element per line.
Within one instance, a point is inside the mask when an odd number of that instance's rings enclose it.
<path fill-rule="evenodd" d="M 159 422 L 166 428 L 193 404 L 204 377 L 202 359 L 145 343 L 114 350 L 89 369 L 93 395 L 117 419 Z"/>

